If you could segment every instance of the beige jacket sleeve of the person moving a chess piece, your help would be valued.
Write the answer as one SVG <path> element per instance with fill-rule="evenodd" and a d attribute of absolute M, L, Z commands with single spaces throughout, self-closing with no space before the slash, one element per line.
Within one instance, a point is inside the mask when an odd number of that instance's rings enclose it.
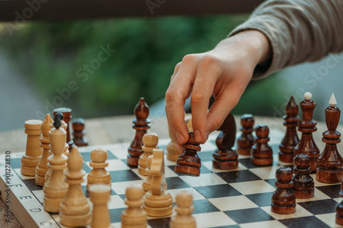
<path fill-rule="evenodd" d="M 286 66 L 343 51 L 343 0 L 270 0 L 235 28 L 255 29 L 270 41 L 272 61 L 255 68 L 261 78 Z"/>

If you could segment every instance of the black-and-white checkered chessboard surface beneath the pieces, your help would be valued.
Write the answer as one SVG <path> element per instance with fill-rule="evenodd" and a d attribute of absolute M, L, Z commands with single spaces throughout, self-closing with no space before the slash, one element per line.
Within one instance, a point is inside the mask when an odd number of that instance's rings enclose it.
<path fill-rule="evenodd" d="M 283 133 L 274 132 L 274 138 L 281 138 Z M 212 153 L 215 150 L 215 137 L 202 145 L 198 153 L 202 160 L 200 177 L 190 177 L 174 173 L 175 162 L 165 160 L 165 177 L 167 190 L 174 199 L 182 190 L 193 194 L 194 212 L 198 227 L 339 227 L 335 224 L 335 207 L 342 200 L 339 198 L 340 184 L 326 184 L 315 181 L 315 197 L 312 199 L 296 199 L 294 214 L 274 214 L 270 211 L 274 185 L 275 171 L 281 165 L 277 153 L 280 140 L 272 140 L 270 146 L 274 150 L 274 164 L 259 167 L 250 163 L 248 156 L 239 155 L 239 167 L 235 170 L 217 170 L 212 167 Z M 273 139 L 273 131 L 271 131 Z M 160 140 L 159 147 L 165 149 L 169 140 Z M 112 194 L 108 209 L 114 227 L 120 227 L 121 211 L 126 208 L 124 203 L 125 190 L 132 183 L 143 182 L 145 177 L 138 174 L 137 168 L 126 164 L 128 143 L 103 145 L 108 151 L 107 170 L 112 177 Z M 91 167 L 91 149 L 80 148 L 84 157 L 84 170 L 88 173 Z M 27 219 L 19 219 L 23 227 L 62 227 L 58 214 L 47 213 L 43 210 L 42 187 L 34 184 L 32 177 L 25 177 L 20 173 L 20 159 L 23 154 L 15 155 L 11 159 L 12 179 L 10 188 L 12 198 L 18 199 L 18 205 L 12 205 L 12 211 L 17 218 L 21 218 L 14 207 L 23 207 L 23 214 L 29 214 L 34 225 L 28 225 Z M 3 160 L 0 160 L 3 166 Z M 284 165 L 284 164 L 283 164 Z M 1 173 L 3 168 L 1 168 Z M 315 175 L 311 175 L 315 178 Z M 1 184 L 4 179 L 1 175 Z M 1 186 L 3 194 L 3 186 Z M 82 183 L 84 194 L 86 183 Z M 29 197 L 27 197 L 29 196 Z M 17 203 L 16 203 L 17 204 Z M 173 213 L 174 216 L 175 212 Z M 169 217 L 148 218 L 148 227 L 169 227 Z"/>

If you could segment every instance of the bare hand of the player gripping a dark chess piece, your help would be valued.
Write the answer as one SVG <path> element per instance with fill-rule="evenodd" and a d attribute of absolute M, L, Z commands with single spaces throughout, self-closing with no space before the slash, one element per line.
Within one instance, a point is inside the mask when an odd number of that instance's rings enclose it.
<path fill-rule="evenodd" d="M 191 96 L 195 140 L 204 143 L 237 105 L 257 64 L 270 56 L 268 39 L 260 31 L 248 30 L 222 40 L 211 51 L 186 55 L 176 65 L 165 94 L 165 110 L 179 151 L 188 140 L 185 100 Z M 215 101 L 208 109 L 212 94 Z"/>

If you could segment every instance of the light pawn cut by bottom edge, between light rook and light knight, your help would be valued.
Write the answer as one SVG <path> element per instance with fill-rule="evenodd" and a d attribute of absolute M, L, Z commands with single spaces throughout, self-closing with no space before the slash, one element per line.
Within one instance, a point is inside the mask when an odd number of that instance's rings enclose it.
<path fill-rule="evenodd" d="M 147 214 L 141 207 L 143 205 L 143 188 L 130 186 L 126 188 L 126 210 L 121 212 L 121 228 L 146 228 Z"/>

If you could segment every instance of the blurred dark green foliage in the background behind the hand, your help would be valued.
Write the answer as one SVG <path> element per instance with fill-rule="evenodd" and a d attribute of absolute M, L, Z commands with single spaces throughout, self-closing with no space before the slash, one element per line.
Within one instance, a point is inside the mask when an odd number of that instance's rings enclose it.
<path fill-rule="evenodd" d="M 63 99 L 84 118 L 132 114 L 139 97 L 148 104 L 163 99 L 174 66 L 188 53 L 213 49 L 217 42 L 247 15 L 206 17 L 121 18 L 102 21 L 34 22 L 22 25 L 14 36 L 3 32 L 0 45 L 25 75 L 32 78 L 41 97 L 53 103 L 58 90 L 75 81 L 78 90 Z M 78 69 L 98 58 L 100 47 L 115 49 L 101 66 L 78 77 Z M 82 70 L 82 72 L 86 72 Z M 265 88 L 282 92 L 275 81 L 250 86 L 236 113 L 265 114 L 265 105 L 277 96 Z M 264 106 L 250 99 L 261 94 Z M 277 93 L 277 92 L 276 92 Z M 270 101 L 274 100 L 274 101 Z M 283 101 L 284 102 L 284 101 Z M 245 104 L 244 104 L 245 103 Z"/>

